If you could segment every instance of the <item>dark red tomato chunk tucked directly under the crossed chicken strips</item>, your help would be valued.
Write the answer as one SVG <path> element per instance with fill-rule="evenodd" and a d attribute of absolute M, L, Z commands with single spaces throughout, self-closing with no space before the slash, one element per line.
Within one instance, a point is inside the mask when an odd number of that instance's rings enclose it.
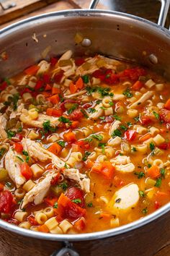
<path fill-rule="evenodd" d="M 79 205 L 81 208 L 84 208 L 84 191 L 79 189 L 78 187 L 70 187 L 66 191 L 66 196 L 70 200 L 80 199 L 81 202 L 77 202 L 77 205 Z"/>

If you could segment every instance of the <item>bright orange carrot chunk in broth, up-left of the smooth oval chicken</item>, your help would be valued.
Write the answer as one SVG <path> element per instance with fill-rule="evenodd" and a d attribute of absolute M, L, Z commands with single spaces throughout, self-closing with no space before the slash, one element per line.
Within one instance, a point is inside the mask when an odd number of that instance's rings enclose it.
<path fill-rule="evenodd" d="M 115 167 L 112 166 L 112 163 L 105 161 L 103 163 L 94 163 L 94 166 L 91 168 L 91 171 L 102 174 L 104 179 L 112 179 L 115 172 Z"/>

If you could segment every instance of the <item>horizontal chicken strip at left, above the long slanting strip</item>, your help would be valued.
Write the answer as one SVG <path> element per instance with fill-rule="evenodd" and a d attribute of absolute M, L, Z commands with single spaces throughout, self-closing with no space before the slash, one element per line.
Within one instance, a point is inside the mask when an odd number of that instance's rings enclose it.
<path fill-rule="evenodd" d="M 32 120 L 28 114 L 27 109 L 22 110 L 22 114 L 20 116 L 20 120 L 24 123 L 29 125 L 30 127 L 40 127 L 43 128 L 43 123 L 45 121 L 50 121 L 50 125 L 52 127 L 58 126 L 60 121 L 58 121 L 58 117 L 47 116 L 45 114 L 38 114 L 36 120 Z"/>

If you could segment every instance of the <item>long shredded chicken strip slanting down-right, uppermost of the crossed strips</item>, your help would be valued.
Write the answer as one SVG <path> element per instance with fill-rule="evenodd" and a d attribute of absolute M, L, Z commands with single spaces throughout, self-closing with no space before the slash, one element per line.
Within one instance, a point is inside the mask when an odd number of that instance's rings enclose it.
<path fill-rule="evenodd" d="M 65 165 L 65 163 L 58 158 L 57 155 L 54 155 L 45 148 L 42 148 L 40 143 L 37 143 L 34 140 L 23 138 L 22 145 L 30 157 L 34 158 L 35 160 L 40 160 L 42 162 L 52 160 L 53 165 L 55 165 L 57 168 L 63 168 Z"/>

